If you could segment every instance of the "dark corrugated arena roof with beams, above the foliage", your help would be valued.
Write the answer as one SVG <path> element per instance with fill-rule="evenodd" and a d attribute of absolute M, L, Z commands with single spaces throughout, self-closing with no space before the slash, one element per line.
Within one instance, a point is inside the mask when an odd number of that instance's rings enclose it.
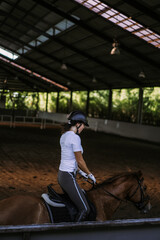
<path fill-rule="evenodd" d="M 96 2 L 160 35 L 158 0 Z M 160 49 L 75 0 L 3 0 L 0 14 L 0 46 L 19 55 L 15 63 L 42 76 L 1 58 L 1 89 L 4 85 L 13 91 L 48 92 L 160 86 Z M 120 55 L 110 54 L 114 41 Z M 61 69 L 63 63 L 67 70 Z M 145 78 L 139 77 L 142 71 Z"/>

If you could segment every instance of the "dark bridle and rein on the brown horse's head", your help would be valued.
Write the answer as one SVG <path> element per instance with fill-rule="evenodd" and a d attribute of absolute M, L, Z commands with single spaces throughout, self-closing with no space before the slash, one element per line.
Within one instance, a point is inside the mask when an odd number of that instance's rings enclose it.
<path fill-rule="evenodd" d="M 139 179 L 136 176 L 136 179 L 137 179 L 137 182 L 138 182 L 138 186 L 137 186 L 136 190 L 134 191 L 134 193 L 131 196 L 127 196 L 126 197 L 126 200 L 132 202 L 138 209 L 141 210 L 141 209 L 143 209 L 147 205 L 147 203 L 149 201 L 149 196 L 148 195 L 146 197 L 144 196 L 144 189 L 142 187 L 142 182 L 143 182 L 144 178 Z M 140 199 L 139 202 L 134 202 L 132 200 L 132 197 L 134 197 L 134 195 L 137 193 L 138 189 L 140 189 L 141 199 Z M 111 196 L 111 197 L 113 197 L 113 198 L 115 198 L 115 199 L 117 199 L 119 201 L 126 202 L 125 200 L 123 200 L 123 199 L 115 196 L 114 194 L 108 192 L 107 190 L 104 190 L 104 192 L 107 193 L 109 196 Z"/>

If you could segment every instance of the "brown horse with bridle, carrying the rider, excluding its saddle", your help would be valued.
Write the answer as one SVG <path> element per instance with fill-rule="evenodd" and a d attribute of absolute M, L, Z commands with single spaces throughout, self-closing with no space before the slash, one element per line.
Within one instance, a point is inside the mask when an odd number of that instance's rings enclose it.
<path fill-rule="evenodd" d="M 97 221 L 111 219 L 120 203 L 127 200 L 133 202 L 138 209 L 144 212 L 150 210 L 149 196 L 146 193 L 140 171 L 122 173 L 109 178 L 89 190 L 87 196 L 96 207 Z M 13 196 L 0 201 L 1 225 L 49 222 L 48 211 L 41 198 L 24 195 Z"/>

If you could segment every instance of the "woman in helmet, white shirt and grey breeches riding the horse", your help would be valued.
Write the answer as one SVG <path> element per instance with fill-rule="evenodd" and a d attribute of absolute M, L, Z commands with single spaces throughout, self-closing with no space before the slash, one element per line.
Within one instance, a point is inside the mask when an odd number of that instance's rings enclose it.
<path fill-rule="evenodd" d="M 85 114 L 73 111 L 68 117 L 64 133 L 60 138 L 61 162 L 58 172 L 58 182 L 65 193 L 78 209 L 75 221 L 83 221 L 90 212 L 85 195 L 76 181 L 77 172 L 96 183 L 96 179 L 89 171 L 83 158 L 83 148 L 79 134 L 88 125 Z"/>

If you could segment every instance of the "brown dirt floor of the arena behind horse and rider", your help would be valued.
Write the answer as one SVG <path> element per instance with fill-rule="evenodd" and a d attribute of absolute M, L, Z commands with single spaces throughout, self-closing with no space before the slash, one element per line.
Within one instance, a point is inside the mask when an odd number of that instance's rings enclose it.
<path fill-rule="evenodd" d="M 0 127 L 0 199 L 29 193 L 40 196 L 46 186 L 57 183 L 60 160 L 60 126 L 52 129 Z M 131 203 L 122 203 L 113 219 L 160 217 L 160 146 L 119 136 L 84 130 L 84 158 L 97 182 L 124 171 L 143 172 L 152 209 L 140 213 Z M 85 190 L 91 186 L 79 179 Z"/>

